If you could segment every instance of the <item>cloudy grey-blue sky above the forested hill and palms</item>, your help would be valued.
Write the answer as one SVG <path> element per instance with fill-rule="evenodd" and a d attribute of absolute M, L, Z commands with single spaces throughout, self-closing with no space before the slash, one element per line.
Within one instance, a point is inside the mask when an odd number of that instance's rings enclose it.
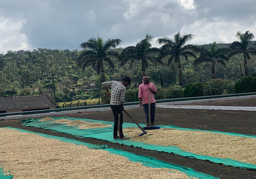
<path fill-rule="evenodd" d="M 50 48 L 82 50 L 92 37 L 135 45 L 193 34 L 191 44 L 230 43 L 237 31 L 256 36 L 255 0 L 0 0 L 0 54 Z M 255 39 L 254 39 L 255 40 Z"/>

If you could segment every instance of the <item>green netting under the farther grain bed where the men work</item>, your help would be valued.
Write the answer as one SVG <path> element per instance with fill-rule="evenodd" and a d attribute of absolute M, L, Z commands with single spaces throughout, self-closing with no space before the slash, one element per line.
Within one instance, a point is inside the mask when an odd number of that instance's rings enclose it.
<path fill-rule="evenodd" d="M 54 118 L 54 119 L 56 119 L 56 120 L 57 119 L 84 120 L 84 121 L 89 121 L 91 123 L 103 123 L 103 124 L 113 125 L 113 122 L 102 121 L 102 120 L 67 118 L 67 117 Z M 153 144 L 146 144 L 143 142 L 136 142 L 136 141 L 132 141 L 132 140 L 114 140 L 113 139 L 113 127 L 106 127 L 106 128 L 99 128 L 99 129 L 77 129 L 76 126 L 68 127 L 68 126 L 66 126 L 66 124 L 54 124 L 51 121 L 39 122 L 39 120 L 41 120 L 41 119 L 27 119 L 27 120 L 22 120 L 22 121 L 24 122 L 23 125 L 26 125 L 26 126 L 34 126 L 34 127 L 49 129 L 52 131 L 56 131 L 56 132 L 60 132 L 60 133 L 67 133 L 67 134 L 71 134 L 71 135 L 75 135 L 75 136 L 79 136 L 79 137 L 91 137 L 94 139 L 100 139 L 100 140 L 105 140 L 105 141 L 109 141 L 109 142 L 130 145 L 133 147 L 139 147 L 139 148 L 143 148 L 143 149 L 147 149 L 147 150 L 156 150 L 156 151 L 162 151 L 162 152 L 167 152 L 167 153 L 174 153 L 174 154 L 178 154 L 179 156 L 195 158 L 195 159 L 200 159 L 200 160 L 207 160 L 207 161 L 214 162 L 216 164 L 223 164 L 226 166 L 256 170 L 256 165 L 253 165 L 253 164 L 246 164 L 244 162 L 232 160 L 229 158 L 221 159 L 221 158 L 215 158 L 215 157 L 210 157 L 210 156 L 203 156 L 200 154 L 183 151 L 175 146 L 153 145 Z M 126 127 L 137 127 L 137 125 L 135 125 L 133 123 L 124 123 L 123 128 L 126 128 Z M 175 129 L 181 129 L 181 130 L 204 131 L 201 129 L 189 129 L 189 128 L 181 128 L 181 127 L 177 127 L 177 126 L 161 126 L 161 128 L 175 128 Z M 221 134 L 226 134 L 226 135 L 235 135 L 235 136 L 256 138 L 256 136 L 254 136 L 254 135 L 243 135 L 243 134 L 237 134 L 237 133 L 227 133 L 227 132 L 218 132 L 218 131 L 204 131 L 204 132 L 213 132 L 213 133 L 221 133 Z M 143 136 L 141 136 L 141 137 L 143 137 Z"/>

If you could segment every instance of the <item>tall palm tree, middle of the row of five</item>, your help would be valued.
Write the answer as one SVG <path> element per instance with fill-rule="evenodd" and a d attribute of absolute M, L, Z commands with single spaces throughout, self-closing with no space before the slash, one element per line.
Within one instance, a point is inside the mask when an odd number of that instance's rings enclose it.
<path fill-rule="evenodd" d="M 193 37 L 194 35 L 192 34 L 181 36 L 180 32 L 178 32 L 178 34 L 174 35 L 174 39 L 170 39 L 169 37 L 157 39 L 159 45 L 163 44 L 161 47 L 161 58 L 168 58 L 167 66 L 170 66 L 172 61 L 178 63 L 180 86 L 183 86 L 180 56 L 183 56 L 186 60 L 188 60 L 188 56 L 192 56 L 196 59 L 196 55 L 190 50 L 199 51 L 198 47 L 195 45 L 185 45 Z"/>

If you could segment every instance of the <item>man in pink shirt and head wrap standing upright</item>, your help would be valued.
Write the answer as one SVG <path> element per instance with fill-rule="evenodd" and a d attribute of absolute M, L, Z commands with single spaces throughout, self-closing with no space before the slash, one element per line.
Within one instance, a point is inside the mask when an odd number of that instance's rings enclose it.
<path fill-rule="evenodd" d="M 143 75 L 142 84 L 139 86 L 139 102 L 140 107 L 144 109 L 147 126 L 154 126 L 155 123 L 155 111 L 156 111 L 156 100 L 155 94 L 157 93 L 154 83 L 149 82 L 149 75 Z M 150 95 L 150 96 L 149 96 Z M 149 102 L 150 99 L 150 102 Z M 150 108 L 149 108 L 150 103 Z M 149 109 L 150 109 L 150 125 L 149 125 Z"/>

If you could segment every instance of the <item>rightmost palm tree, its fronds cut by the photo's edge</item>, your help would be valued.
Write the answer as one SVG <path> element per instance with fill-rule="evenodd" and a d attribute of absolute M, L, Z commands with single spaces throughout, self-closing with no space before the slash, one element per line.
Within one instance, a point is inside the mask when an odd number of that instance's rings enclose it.
<path fill-rule="evenodd" d="M 248 76 L 248 65 L 247 65 L 247 59 L 250 59 L 250 53 L 252 54 L 256 54 L 256 50 L 253 48 L 249 48 L 248 44 L 250 42 L 251 39 L 253 39 L 254 35 L 252 33 L 250 33 L 249 30 L 245 31 L 244 34 L 242 34 L 241 32 L 237 32 L 236 37 L 239 38 L 239 40 L 241 42 L 235 41 L 231 44 L 230 48 L 233 50 L 232 52 L 230 52 L 230 54 L 228 55 L 228 57 L 230 58 L 233 55 L 239 54 L 239 53 L 243 53 L 244 56 L 244 74 L 245 76 Z"/>

